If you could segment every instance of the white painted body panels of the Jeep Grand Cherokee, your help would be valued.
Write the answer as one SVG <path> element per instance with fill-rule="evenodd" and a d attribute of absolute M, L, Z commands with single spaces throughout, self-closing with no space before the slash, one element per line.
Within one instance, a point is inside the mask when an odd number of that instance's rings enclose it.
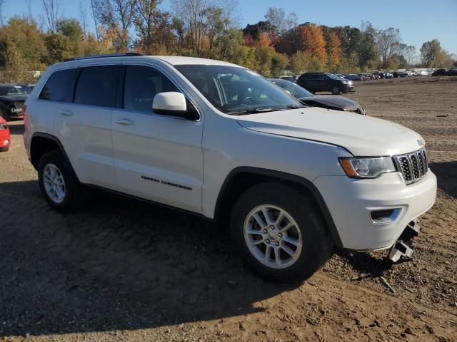
<path fill-rule="evenodd" d="M 200 120 L 39 100 L 54 71 L 110 63 L 157 68 L 194 103 Z M 227 115 L 174 68 L 185 64 L 235 66 L 176 56 L 94 58 L 51 66 L 26 101 L 24 142 L 29 157 L 34 133 L 54 135 L 81 182 L 209 218 L 215 217 L 222 187 L 233 170 L 251 167 L 300 177 L 316 187 L 341 247 L 350 249 L 390 247 L 408 222 L 433 205 L 432 172 L 413 185 L 405 185 L 400 172 L 355 180 L 338 162 L 338 157 L 418 150 L 423 147 L 418 133 L 386 120 L 323 108 Z M 73 115 L 59 114 L 62 110 Z M 117 125 L 122 119 L 134 124 Z M 402 208 L 395 222 L 376 226 L 369 219 L 370 210 L 391 207 Z"/>

